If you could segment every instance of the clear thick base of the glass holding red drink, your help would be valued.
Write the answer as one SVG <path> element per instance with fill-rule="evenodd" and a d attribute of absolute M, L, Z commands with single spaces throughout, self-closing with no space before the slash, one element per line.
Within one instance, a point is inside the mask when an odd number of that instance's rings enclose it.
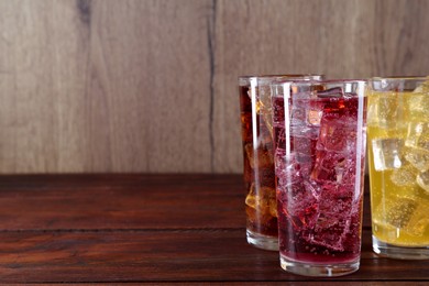
<path fill-rule="evenodd" d="M 356 272 L 360 261 L 341 264 L 310 264 L 288 260 L 280 255 L 280 266 L 283 270 L 299 274 L 302 276 L 314 277 L 336 277 L 343 276 Z"/>

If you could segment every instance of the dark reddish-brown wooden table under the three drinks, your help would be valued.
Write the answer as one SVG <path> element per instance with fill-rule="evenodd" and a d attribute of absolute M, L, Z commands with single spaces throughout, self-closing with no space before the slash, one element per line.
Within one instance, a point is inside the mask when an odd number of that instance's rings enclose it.
<path fill-rule="evenodd" d="M 324 279 L 250 246 L 243 200 L 240 175 L 1 176 L 0 282 L 429 284 L 429 261 L 372 252 L 367 198 L 360 271 Z"/>

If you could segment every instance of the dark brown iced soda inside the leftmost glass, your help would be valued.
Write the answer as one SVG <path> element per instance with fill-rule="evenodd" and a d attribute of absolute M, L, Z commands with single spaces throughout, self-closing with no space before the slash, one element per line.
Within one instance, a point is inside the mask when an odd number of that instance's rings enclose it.
<path fill-rule="evenodd" d="M 249 87 L 240 87 L 241 132 L 244 156 L 244 186 L 246 193 L 246 228 L 253 233 L 277 237 L 277 209 L 273 140 L 258 103 L 253 107 Z M 254 125 L 255 124 L 255 125 Z M 255 139 L 255 140 L 254 140 Z M 256 142 L 256 145 L 254 145 Z"/>

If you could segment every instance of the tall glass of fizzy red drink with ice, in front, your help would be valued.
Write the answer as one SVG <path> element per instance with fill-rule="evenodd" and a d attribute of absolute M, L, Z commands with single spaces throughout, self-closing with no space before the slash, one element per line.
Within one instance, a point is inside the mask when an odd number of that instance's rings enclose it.
<path fill-rule="evenodd" d="M 366 118 L 362 80 L 273 86 L 280 266 L 306 276 L 358 271 Z"/>

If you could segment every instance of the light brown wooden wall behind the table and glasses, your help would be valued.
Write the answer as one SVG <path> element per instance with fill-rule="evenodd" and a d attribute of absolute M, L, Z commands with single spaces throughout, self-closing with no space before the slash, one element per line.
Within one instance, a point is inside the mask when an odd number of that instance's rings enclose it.
<path fill-rule="evenodd" d="M 0 173 L 239 173 L 239 75 L 428 75 L 428 11 L 426 0 L 0 0 Z"/>

